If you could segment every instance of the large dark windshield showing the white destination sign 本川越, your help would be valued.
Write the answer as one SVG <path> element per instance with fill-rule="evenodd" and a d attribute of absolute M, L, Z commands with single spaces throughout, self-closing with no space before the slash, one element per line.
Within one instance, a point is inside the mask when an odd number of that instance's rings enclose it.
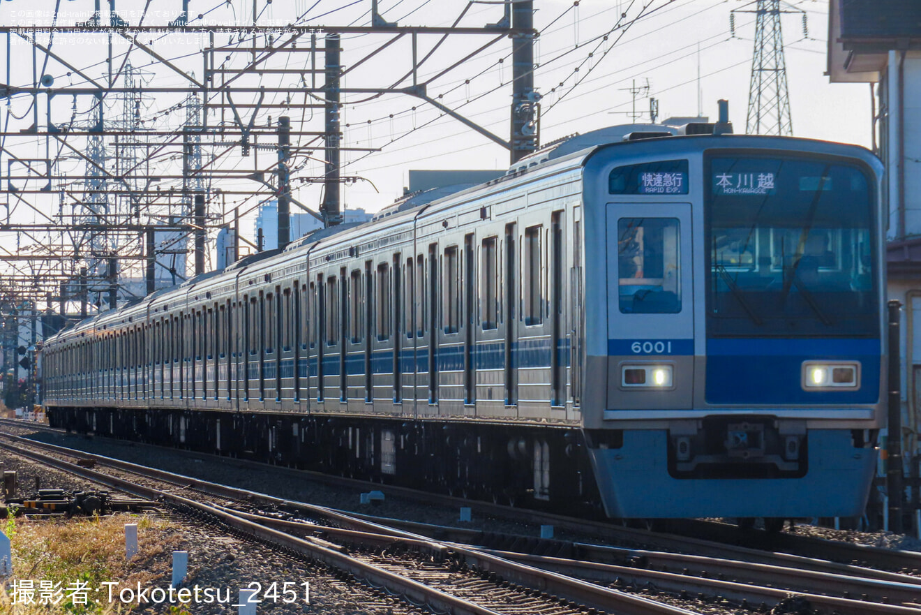
<path fill-rule="evenodd" d="M 879 335 L 864 172 L 804 158 L 713 158 L 709 169 L 709 336 Z"/>

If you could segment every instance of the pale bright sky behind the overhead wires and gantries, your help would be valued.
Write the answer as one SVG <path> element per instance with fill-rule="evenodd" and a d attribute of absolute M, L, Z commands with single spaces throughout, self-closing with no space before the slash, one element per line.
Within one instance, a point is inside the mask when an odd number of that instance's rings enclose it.
<path fill-rule="evenodd" d="M 255 6 L 260 25 L 292 22 L 307 26 L 367 25 L 370 4 L 370 0 L 275 0 L 274 3 L 268 0 L 191 0 L 190 14 L 193 24 L 250 25 Z M 55 5 L 59 6 L 58 23 L 70 25 L 91 16 L 93 0 L 6 0 L 0 2 L 0 22 L 48 24 L 52 21 Z M 102 5 L 103 18 L 106 18 L 109 3 Z M 145 5 L 148 9 L 144 23 L 162 25 L 178 16 L 181 0 L 117 0 L 115 9 L 126 21 L 137 24 Z M 701 111 L 711 118 L 717 114 L 717 100 L 727 99 L 736 132 L 744 131 L 754 37 L 754 16 L 744 11 L 751 9 L 753 3 L 743 0 L 535 0 L 534 6 L 534 24 L 540 31 L 535 44 L 534 81 L 543 97 L 542 142 L 608 125 L 628 124 L 634 105 L 637 111 L 648 110 L 649 97 L 659 101 L 659 119 L 696 115 L 698 93 L 703 103 Z M 782 25 L 794 134 L 869 147 L 869 86 L 830 84 L 828 77 L 823 75 L 827 0 L 791 2 L 786 6 L 791 12 L 784 15 Z M 733 9 L 738 11 L 734 18 L 734 34 L 730 30 Z M 380 0 L 379 11 L 385 19 L 400 25 L 450 26 L 463 13 L 461 26 L 482 27 L 502 16 L 502 6 L 490 1 L 468 4 L 465 0 Z M 806 34 L 802 12 L 806 15 Z M 199 15 L 202 17 L 198 18 Z M 297 18 L 300 19 L 296 21 Z M 607 38 L 602 38 L 605 35 Z M 401 81 L 410 71 L 410 37 L 394 42 L 358 65 L 362 57 L 391 38 L 368 33 L 343 35 L 343 63 L 348 69 L 344 87 L 374 89 L 388 88 L 394 83 L 402 86 L 412 83 L 412 77 Z M 507 138 L 511 102 L 510 41 L 505 38 L 481 53 L 473 53 L 493 38 L 452 34 L 437 46 L 416 78 L 426 82 L 433 98 L 440 96 L 444 104 L 497 136 Z M 0 34 L 0 72 L 5 73 L 0 81 L 28 86 L 32 82 L 32 48 L 28 42 L 17 40 L 15 36 L 13 39 L 7 48 L 6 37 Z M 418 57 L 424 57 L 438 40 L 439 37 L 433 35 L 419 36 Z M 47 35 L 40 35 L 39 41 L 46 46 L 52 42 Z M 193 35 L 151 34 L 144 35 L 142 41 L 158 55 L 169 59 L 177 69 L 202 77 L 201 50 L 208 42 L 206 39 Z M 306 46 L 309 39 L 305 37 L 302 41 Z M 227 34 L 216 36 L 218 46 L 240 44 Z M 251 41 L 242 44 L 248 45 Z M 116 83 L 122 82 L 118 78 L 119 67 L 130 49 L 126 41 L 113 37 L 111 65 Z M 60 35 L 52 42 L 52 51 L 87 77 L 108 77 L 106 59 L 110 42 L 106 34 Z M 470 54 L 471 57 L 464 60 Z M 242 66 L 250 56 L 227 53 L 227 56 L 216 54 L 216 57 L 218 64 L 224 62 L 232 68 Z M 36 72 L 54 77 L 54 88 L 85 83 L 83 78 L 53 59 L 44 64 L 42 53 L 37 53 L 36 58 L 41 66 Z M 127 58 L 140 71 L 138 78 L 149 87 L 173 88 L 188 83 L 180 74 L 141 50 L 132 49 Z M 277 54 L 266 66 L 307 69 L 308 58 L 308 53 Z M 317 78 L 321 85 L 322 76 Z M 271 73 L 238 78 L 237 83 L 247 87 L 264 85 L 289 90 L 288 94 L 267 95 L 265 101 L 288 101 L 291 107 L 284 111 L 262 109 L 254 119 L 255 125 L 274 123 L 284 112 L 291 116 L 296 131 L 323 130 L 321 109 L 297 108 L 297 103 L 305 100 L 319 102 L 300 91 L 299 79 Z M 303 83 L 309 83 L 311 77 L 305 74 L 304 79 Z M 175 130 L 185 117 L 185 109 L 181 106 L 183 98 L 184 95 L 168 93 L 143 97 L 139 107 L 143 125 Z M 245 96 L 240 95 L 234 101 L 239 104 L 246 102 L 244 99 Z M 438 112 L 425 101 L 406 94 L 376 96 L 370 93 L 347 94 L 343 101 L 346 150 L 342 172 L 356 178 L 343 189 L 347 207 L 377 211 L 388 206 L 402 195 L 407 172 L 411 169 L 502 170 L 508 166 L 506 149 Z M 117 120 L 123 101 L 110 95 L 104 104 L 110 121 Z M 52 122 L 68 124 L 73 121 L 75 125 L 88 125 L 95 113 L 94 105 L 92 97 L 56 96 L 52 99 Z M 39 110 L 39 124 L 46 124 L 44 97 L 39 98 Z M 251 109 L 241 111 L 248 115 Z M 0 102 L 0 121 L 5 123 L 7 131 L 29 127 L 33 122 L 30 97 L 15 97 L 8 106 Z M 636 121 L 648 122 L 648 114 Z M 208 122 L 210 125 L 232 125 L 232 113 L 229 109 L 225 109 L 223 115 L 215 111 L 209 115 Z M 72 139 L 77 149 L 86 147 L 85 140 Z M 310 136 L 295 137 L 293 141 L 296 147 L 305 148 L 298 150 L 293 165 L 294 195 L 301 203 L 317 207 L 321 201 L 321 186 L 308 180 L 322 173 L 321 144 L 316 137 Z M 85 162 L 73 151 L 62 149 L 54 142 L 49 145 L 43 137 L 7 136 L 2 145 L 20 158 L 46 155 L 53 158 L 60 152 L 59 171 L 82 174 L 86 168 Z M 249 158 L 241 157 L 239 148 L 204 148 L 203 153 L 206 163 L 228 170 L 266 168 L 275 156 L 268 147 L 258 149 Z M 211 162 L 218 155 L 218 160 Z M 0 166 L 3 167 L 0 172 L 7 171 L 6 160 L 0 160 Z M 155 166 L 164 174 L 169 174 L 170 170 L 178 172 L 181 171 L 181 159 L 175 155 L 175 150 L 172 155 L 161 152 Z M 167 181 L 161 184 L 164 188 L 169 186 Z M 254 187 L 252 182 L 243 179 L 213 180 L 211 183 L 212 189 L 231 186 Z M 233 207 L 246 210 L 257 202 L 258 198 L 225 197 L 212 207 L 217 209 L 217 215 L 226 216 Z M 33 204 L 52 215 L 60 208 L 60 199 L 55 195 L 36 197 Z M 29 207 L 13 201 L 9 205 L 13 220 L 41 220 L 41 215 Z M 241 223 L 244 233 L 252 228 L 251 218 L 252 214 L 248 214 Z M 20 241 L 29 240 L 20 238 Z"/>

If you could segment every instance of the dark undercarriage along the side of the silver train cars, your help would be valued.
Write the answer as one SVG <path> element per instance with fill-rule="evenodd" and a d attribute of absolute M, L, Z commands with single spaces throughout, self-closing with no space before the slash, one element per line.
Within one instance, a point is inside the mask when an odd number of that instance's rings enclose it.
<path fill-rule="evenodd" d="M 333 414 L 49 408 L 52 427 L 436 491 L 600 514 L 576 428 Z"/>

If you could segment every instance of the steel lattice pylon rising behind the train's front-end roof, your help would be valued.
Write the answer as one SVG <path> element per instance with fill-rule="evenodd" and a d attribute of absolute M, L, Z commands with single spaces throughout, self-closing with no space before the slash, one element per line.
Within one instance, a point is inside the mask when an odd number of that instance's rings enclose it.
<path fill-rule="evenodd" d="M 780 16 L 802 13 L 780 0 L 756 0 L 752 8 L 736 9 L 732 13 L 754 13 L 754 49 L 752 51 L 752 83 L 749 88 L 748 117 L 745 132 L 749 135 L 793 135 L 790 118 L 790 98 L 787 91 L 787 62 L 784 60 L 784 35 Z M 735 19 L 732 16 L 735 35 Z M 805 21 L 803 28 L 805 30 Z"/>

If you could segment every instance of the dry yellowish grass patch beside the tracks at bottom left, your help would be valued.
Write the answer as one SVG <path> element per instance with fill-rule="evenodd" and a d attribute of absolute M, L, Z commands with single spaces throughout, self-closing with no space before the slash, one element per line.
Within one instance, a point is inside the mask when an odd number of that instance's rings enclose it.
<path fill-rule="evenodd" d="M 124 558 L 124 526 L 138 526 L 138 555 L 131 561 Z M 107 517 L 30 520 L 9 517 L 2 523 L 13 550 L 13 572 L 0 587 L 0 614 L 3 615 L 115 615 L 131 613 L 136 605 L 124 605 L 118 599 L 121 587 L 155 585 L 168 570 L 174 526 L 162 519 L 146 516 L 114 515 Z M 161 572 L 157 572 L 157 571 Z M 2 577 L 0 577 L 2 578 Z M 12 583 L 32 581 L 35 601 L 39 601 L 40 582 L 60 583 L 63 598 L 56 605 L 14 603 Z M 116 597 L 110 602 L 106 582 L 118 582 L 112 590 Z M 75 584 L 86 584 L 88 604 L 81 604 L 80 593 L 74 597 Z M 162 585 L 157 584 L 157 585 Z M 97 602 L 99 600 L 99 602 Z M 187 611 L 175 610 L 175 615 Z"/>

